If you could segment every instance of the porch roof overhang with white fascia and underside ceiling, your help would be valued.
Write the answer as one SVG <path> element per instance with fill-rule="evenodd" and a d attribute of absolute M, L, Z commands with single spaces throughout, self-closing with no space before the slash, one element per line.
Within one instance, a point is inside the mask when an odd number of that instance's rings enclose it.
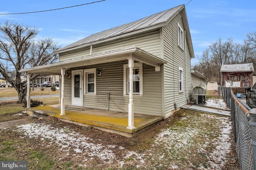
<path fill-rule="evenodd" d="M 61 75 L 61 69 L 68 70 L 72 67 L 87 66 L 101 63 L 109 63 L 114 61 L 121 61 L 126 59 L 134 59 L 135 61 L 142 62 L 154 67 L 159 67 L 160 64 L 166 64 L 167 62 L 155 55 L 152 55 L 138 47 L 128 47 L 125 49 L 119 49 L 115 51 L 109 51 L 106 53 L 100 53 L 96 55 L 90 55 L 86 57 L 70 59 L 67 61 L 61 61 L 58 63 L 48 64 L 44 66 L 36 66 L 32 68 L 25 68 L 19 70 L 19 72 L 37 73 L 37 74 L 55 74 Z"/>

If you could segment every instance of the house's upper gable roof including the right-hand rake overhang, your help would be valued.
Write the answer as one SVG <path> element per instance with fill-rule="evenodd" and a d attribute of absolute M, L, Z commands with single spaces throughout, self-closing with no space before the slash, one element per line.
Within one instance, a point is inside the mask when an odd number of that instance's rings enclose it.
<path fill-rule="evenodd" d="M 126 23 L 118 27 L 114 27 L 111 29 L 107 29 L 105 31 L 101 31 L 99 33 L 92 34 L 79 41 L 76 41 L 75 43 L 72 43 L 70 45 L 67 45 L 66 47 L 63 47 L 55 51 L 54 53 L 62 53 L 62 52 L 73 50 L 73 49 L 78 49 L 78 48 L 82 48 L 90 45 L 95 45 L 98 43 L 103 43 L 105 41 L 111 41 L 112 39 L 116 39 L 116 37 L 120 38 L 128 35 L 132 35 L 135 33 L 139 33 L 142 31 L 156 29 L 164 25 L 167 25 L 167 23 L 170 20 L 172 20 L 172 18 L 176 16 L 176 14 L 178 14 L 179 12 L 181 12 L 181 15 L 182 15 L 182 20 L 183 20 L 184 28 L 186 31 L 186 38 L 188 39 L 188 46 L 190 49 L 191 57 L 194 58 L 194 50 L 192 46 L 192 40 L 190 36 L 190 30 L 188 27 L 188 21 L 187 21 L 184 4 L 180 6 L 176 6 L 169 10 L 165 10 L 163 12 L 159 12 L 157 14 L 148 16 L 146 18 L 142 18 L 140 20 L 137 20 L 131 23 Z"/>

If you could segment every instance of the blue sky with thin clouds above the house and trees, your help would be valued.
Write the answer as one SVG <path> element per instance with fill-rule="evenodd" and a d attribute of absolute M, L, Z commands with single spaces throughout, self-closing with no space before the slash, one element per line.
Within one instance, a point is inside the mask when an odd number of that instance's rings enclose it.
<path fill-rule="evenodd" d="M 0 13 L 52 10 L 97 0 L 8 0 Z M 60 3 L 61 2 L 61 3 Z M 0 15 L 0 22 L 16 21 L 39 28 L 38 38 L 51 37 L 62 47 L 94 33 L 156 14 L 181 4 L 186 14 L 196 58 L 219 38 L 243 43 L 246 34 L 256 31 L 255 0 L 105 0 L 63 10 L 20 15 Z"/>

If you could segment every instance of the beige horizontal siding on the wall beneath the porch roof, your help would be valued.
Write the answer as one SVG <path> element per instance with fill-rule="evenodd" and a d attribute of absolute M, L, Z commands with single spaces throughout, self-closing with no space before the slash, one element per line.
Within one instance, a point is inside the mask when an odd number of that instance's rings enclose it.
<path fill-rule="evenodd" d="M 96 76 L 97 94 L 83 94 L 83 106 L 92 109 L 108 109 L 107 93 L 110 93 L 110 106 L 112 111 L 128 112 L 129 95 L 123 95 L 123 64 L 117 63 L 98 64 L 86 66 L 88 69 L 98 68 L 100 76 Z M 75 69 L 75 68 L 73 68 Z M 68 70 L 71 72 L 71 70 Z M 65 76 L 65 102 L 71 105 L 71 80 Z M 155 72 L 154 67 L 143 64 L 143 96 L 134 95 L 134 113 L 148 115 L 162 115 L 161 73 Z M 128 113 L 127 113 L 128 114 Z"/>

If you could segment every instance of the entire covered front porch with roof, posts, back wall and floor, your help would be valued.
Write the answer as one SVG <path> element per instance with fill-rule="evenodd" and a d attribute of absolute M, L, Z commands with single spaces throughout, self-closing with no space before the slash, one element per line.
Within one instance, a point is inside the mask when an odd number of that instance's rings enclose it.
<path fill-rule="evenodd" d="M 112 74 L 108 73 L 106 70 L 104 72 L 103 71 L 104 68 L 102 69 L 101 72 L 100 70 L 98 71 L 98 68 L 96 68 L 100 64 L 105 64 L 105 66 L 107 66 L 108 64 L 112 64 L 112 63 L 116 64 L 120 62 L 122 63 L 122 64 L 118 64 L 118 66 L 121 65 L 120 69 L 116 72 L 113 72 Z M 141 64 L 138 66 L 138 63 L 141 63 Z M 40 112 L 46 115 L 52 114 L 53 116 L 59 117 L 64 120 L 80 122 L 80 123 L 88 124 L 91 126 L 96 126 L 97 128 L 99 127 L 108 128 L 108 129 L 111 129 L 110 131 L 115 133 L 119 133 L 119 134 L 126 133 L 126 134 L 129 134 L 126 136 L 134 136 L 136 132 L 139 132 L 141 129 L 144 129 L 144 127 L 154 124 L 155 122 L 162 120 L 164 118 L 162 103 L 160 103 L 162 101 L 162 88 L 159 82 L 161 81 L 161 76 L 162 76 L 161 71 L 163 72 L 161 68 L 163 68 L 163 64 L 165 63 L 167 62 L 164 61 L 163 59 L 156 57 L 146 51 L 143 51 L 142 49 L 139 49 L 133 46 L 133 47 L 128 47 L 124 49 L 108 51 L 105 53 L 99 53 L 95 55 L 90 54 L 89 56 L 68 59 L 68 60 L 60 61 L 54 64 L 22 69 L 20 70 L 20 72 L 26 72 L 28 75 L 27 76 L 28 84 L 30 82 L 31 74 L 60 75 L 60 82 L 61 82 L 60 106 L 51 107 L 51 108 L 48 106 L 30 108 L 30 90 L 28 89 L 27 110 L 31 111 L 31 114 L 40 113 Z M 143 85 L 142 64 L 146 64 L 151 68 L 153 68 L 154 72 L 160 73 L 157 76 L 154 76 L 154 79 L 156 79 L 156 77 L 158 78 L 158 82 L 150 81 L 152 80 L 152 77 L 148 77 L 148 79 L 146 79 L 146 76 L 148 74 L 145 74 L 145 80 L 148 80 L 148 86 L 150 87 L 148 87 L 147 89 L 148 91 L 146 90 L 144 91 L 144 94 L 142 94 L 142 91 L 143 91 L 142 90 L 142 85 Z M 116 66 L 117 65 L 115 65 L 114 67 Z M 138 69 L 139 70 L 138 74 L 141 74 L 140 75 L 141 77 L 140 78 L 137 77 L 139 82 L 138 88 L 140 89 L 140 91 L 139 93 L 137 92 L 137 94 L 135 94 L 136 103 L 134 103 L 133 86 L 134 86 L 134 80 L 135 80 L 134 69 L 136 68 L 137 69 L 141 68 L 141 70 Z M 70 77 L 70 72 L 71 72 L 71 77 Z M 88 78 L 88 72 L 94 75 L 94 78 L 93 78 L 94 89 L 92 89 L 92 91 L 90 92 L 88 91 L 88 80 L 86 79 Z M 117 86 L 113 86 L 112 89 L 110 89 L 109 88 L 110 84 L 108 82 L 111 81 L 112 77 L 117 75 L 118 73 L 121 73 L 120 78 L 122 77 L 123 80 L 119 80 L 116 84 L 118 87 L 120 86 L 121 88 L 123 88 L 123 90 L 116 92 Z M 102 87 L 101 89 L 97 90 L 96 87 L 99 82 L 101 83 L 100 85 Z M 106 83 L 104 84 L 104 82 Z M 156 83 L 157 85 L 155 85 Z M 146 84 L 146 81 L 144 82 L 144 86 L 146 89 L 147 86 L 145 84 Z M 102 90 L 104 88 L 108 90 L 105 90 L 105 91 Z M 120 100 L 122 101 L 122 103 L 120 103 L 120 107 L 118 107 L 118 110 L 122 110 L 123 112 L 112 113 L 111 111 L 104 111 L 102 107 L 97 108 L 100 102 L 110 100 L 109 98 L 107 99 L 105 95 L 103 95 L 103 94 L 109 94 L 108 93 L 109 90 L 112 90 L 112 92 L 114 92 L 115 94 L 115 95 L 112 95 L 112 97 L 110 98 L 115 99 L 116 101 L 120 101 Z M 158 97 L 157 100 L 154 100 L 155 96 Z M 93 99 L 93 102 L 91 102 L 91 106 L 88 106 L 88 104 L 84 103 L 88 101 L 90 102 L 92 99 Z M 144 113 L 144 115 L 139 116 L 134 113 L 134 105 L 138 106 L 138 104 L 140 104 L 141 106 L 139 107 L 138 110 L 136 110 L 136 113 L 142 113 L 143 111 L 146 110 L 145 111 L 146 113 Z M 73 108 L 75 106 L 81 106 L 80 111 L 78 111 L 78 109 L 74 109 L 74 110 L 71 109 L 72 112 L 70 113 L 70 110 L 67 110 L 69 106 L 72 106 Z M 88 111 L 86 107 L 99 109 L 98 113 L 97 111 L 90 112 L 90 114 L 88 112 L 84 112 L 86 110 Z M 157 107 L 157 110 L 155 110 L 156 107 Z M 137 108 L 138 107 L 136 107 L 136 109 Z M 49 111 L 49 110 L 52 110 L 52 111 Z M 112 108 L 110 108 L 110 110 L 113 111 Z M 148 111 L 150 111 L 150 113 L 148 113 Z M 85 115 L 84 113 L 88 115 Z M 104 115 L 103 113 L 106 115 Z M 121 117 L 118 118 L 118 116 L 122 114 L 123 114 L 122 119 Z M 151 115 L 155 115 L 156 117 Z M 111 118 L 112 116 L 113 118 Z M 90 121 L 88 121 L 87 117 L 93 117 L 93 119 L 90 119 Z M 148 124 L 147 121 L 145 122 L 142 121 L 143 119 L 140 117 L 148 117 L 148 118 L 154 117 L 154 119 L 152 123 L 151 123 L 151 120 L 148 120 L 148 122 L 150 122 Z M 119 119 L 122 121 L 120 121 Z"/>

